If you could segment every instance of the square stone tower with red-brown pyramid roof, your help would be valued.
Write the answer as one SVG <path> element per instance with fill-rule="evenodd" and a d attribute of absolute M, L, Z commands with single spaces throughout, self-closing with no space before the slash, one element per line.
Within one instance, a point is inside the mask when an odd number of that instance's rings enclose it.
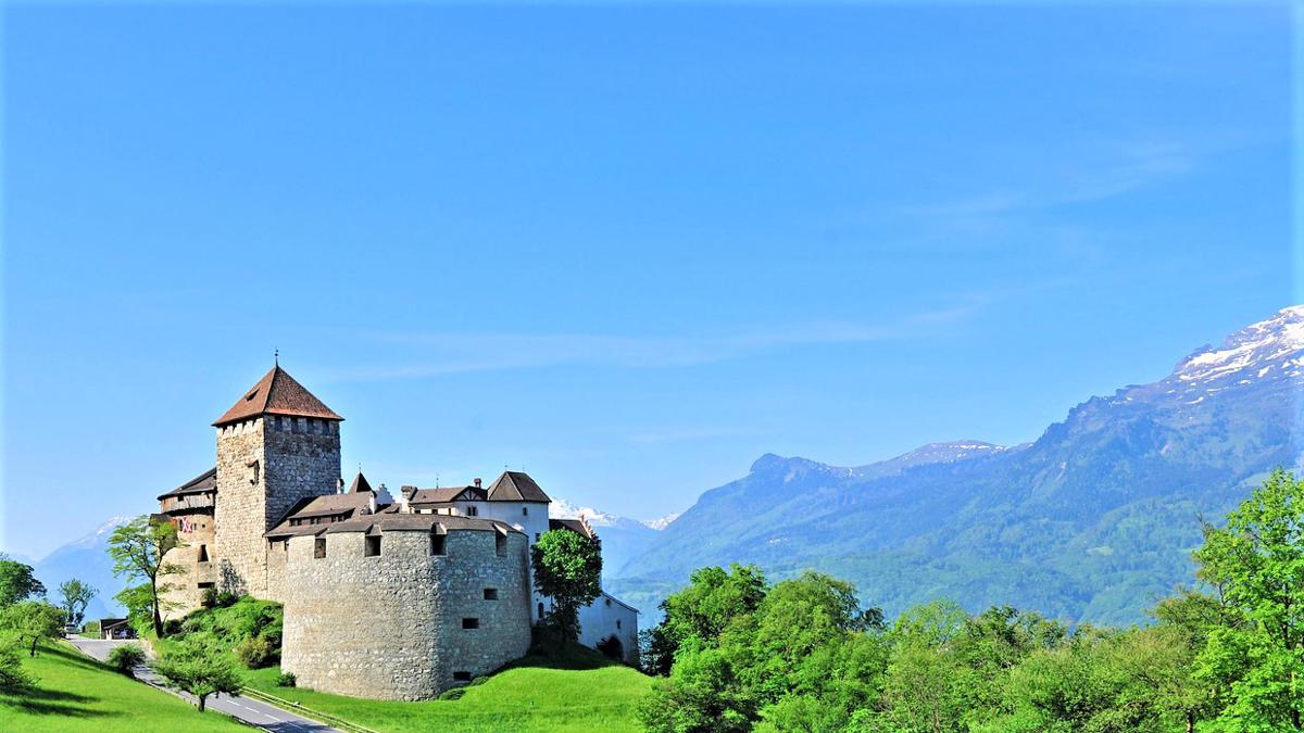
<path fill-rule="evenodd" d="M 278 364 L 213 425 L 218 429 L 214 561 L 218 586 L 280 600 L 263 533 L 304 498 L 335 493 L 344 419 Z"/>

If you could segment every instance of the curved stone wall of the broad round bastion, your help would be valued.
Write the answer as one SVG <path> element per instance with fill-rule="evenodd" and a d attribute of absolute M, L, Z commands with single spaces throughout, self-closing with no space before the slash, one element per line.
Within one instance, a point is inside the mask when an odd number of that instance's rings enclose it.
<path fill-rule="evenodd" d="M 286 560 L 282 669 L 316 690 L 420 700 L 520 657 L 529 648 L 527 543 L 512 532 L 459 530 L 446 554 L 430 533 L 387 531 L 365 557 L 361 532 L 292 537 Z M 486 600 L 485 590 L 497 591 Z M 464 629 L 464 618 L 479 620 Z"/>

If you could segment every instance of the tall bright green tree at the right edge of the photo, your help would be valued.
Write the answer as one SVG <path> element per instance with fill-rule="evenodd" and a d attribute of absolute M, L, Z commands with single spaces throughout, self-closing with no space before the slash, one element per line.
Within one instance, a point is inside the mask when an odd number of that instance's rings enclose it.
<path fill-rule="evenodd" d="M 1213 627 L 1197 661 L 1226 685 L 1218 729 L 1304 729 L 1304 483 L 1274 471 L 1194 557 L 1243 620 Z"/>

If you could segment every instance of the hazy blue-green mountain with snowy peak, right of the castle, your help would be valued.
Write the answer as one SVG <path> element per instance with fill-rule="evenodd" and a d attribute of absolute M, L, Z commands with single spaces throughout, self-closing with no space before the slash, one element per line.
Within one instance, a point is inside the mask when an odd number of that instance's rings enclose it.
<path fill-rule="evenodd" d="M 853 468 L 764 455 L 613 573 L 644 612 L 709 563 L 815 567 L 888 613 L 935 597 L 1129 622 L 1192 580 L 1221 519 L 1297 467 L 1304 307 L 1202 347 L 1164 380 L 1097 396 L 1035 442 L 932 443 Z"/>

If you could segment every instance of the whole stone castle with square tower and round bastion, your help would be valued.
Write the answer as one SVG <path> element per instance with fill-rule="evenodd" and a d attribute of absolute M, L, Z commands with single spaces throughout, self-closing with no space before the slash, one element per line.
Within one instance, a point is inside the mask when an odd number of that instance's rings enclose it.
<path fill-rule="evenodd" d="M 279 601 L 282 669 L 365 698 L 429 699 L 523 656 L 550 608 L 529 548 L 592 527 L 550 518 L 518 471 L 398 497 L 359 472 L 346 490 L 343 420 L 278 364 L 213 424 L 216 466 L 158 497 L 180 539 L 168 616 L 209 588 Z M 604 592 L 579 618 L 582 643 L 634 661 L 636 609 Z"/>

